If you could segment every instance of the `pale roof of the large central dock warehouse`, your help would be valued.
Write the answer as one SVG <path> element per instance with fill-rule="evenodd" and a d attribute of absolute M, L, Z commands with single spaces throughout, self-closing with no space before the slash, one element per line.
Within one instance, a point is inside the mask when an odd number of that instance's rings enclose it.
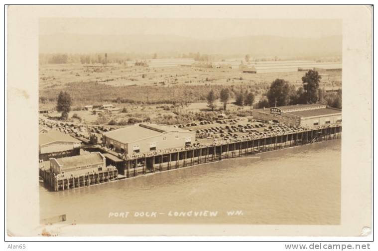
<path fill-rule="evenodd" d="M 164 132 L 189 132 L 181 128 L 158 125 L 158 124 L 137 124 L 127 126 L 105 133 L 104 135 L 110 139 L 114 139 L 123 144 L 134 142 L 141 139 L 159 136 Z"/>

